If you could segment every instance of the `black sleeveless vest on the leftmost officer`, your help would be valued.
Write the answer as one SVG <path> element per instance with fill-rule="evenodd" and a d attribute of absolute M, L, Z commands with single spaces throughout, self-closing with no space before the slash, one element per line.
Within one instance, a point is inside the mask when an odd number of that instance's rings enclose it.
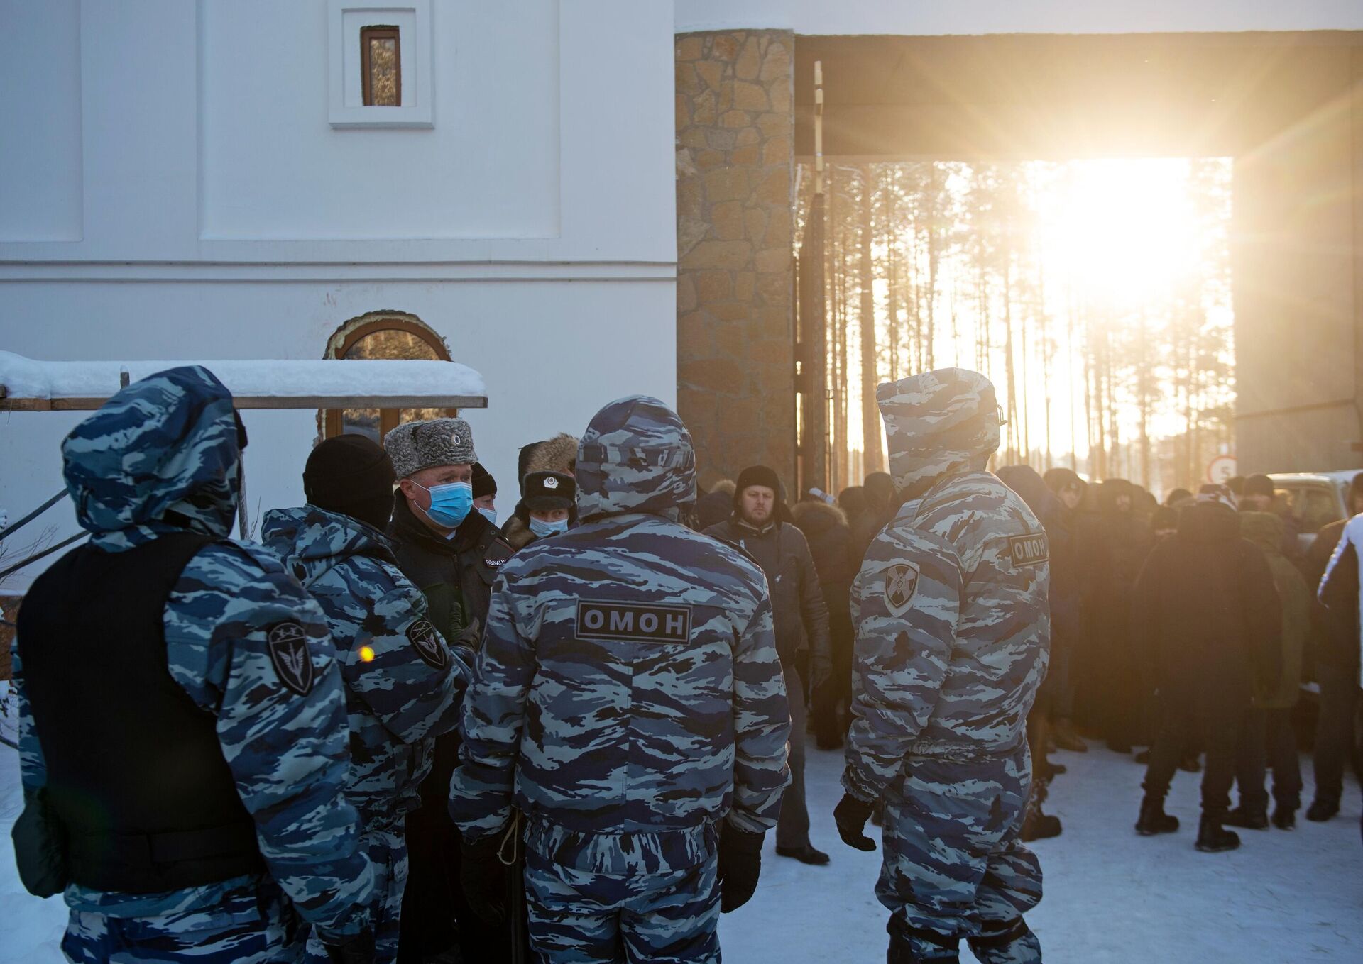
<path fill-rule="evenodd" d="M 166 598 L 211 542 L 185 532 L 121 553 L 80 546 L 23 598 L 25 693 L 75 884 L 157 893 L 264 870 L 217 719 L 166 660 Z"/>

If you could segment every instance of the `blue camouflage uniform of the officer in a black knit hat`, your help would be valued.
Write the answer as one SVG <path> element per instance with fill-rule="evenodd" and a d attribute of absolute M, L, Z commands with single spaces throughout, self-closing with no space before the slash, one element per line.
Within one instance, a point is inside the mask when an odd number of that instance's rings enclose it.
<path fill-rule="evenodd" d="M 316 599 L 337 645 L 350 719 L 346 797 L 375 874 L 375 960 L 393 961 L 408 878 L 403 822 L 421 805 L 435 738 L 458 724 L 473 654 L 446 645 L 378 530 L 307 505 L 269 512 L 262 534 Z M 308 959 L 327 960 L 316 937 Z"/>

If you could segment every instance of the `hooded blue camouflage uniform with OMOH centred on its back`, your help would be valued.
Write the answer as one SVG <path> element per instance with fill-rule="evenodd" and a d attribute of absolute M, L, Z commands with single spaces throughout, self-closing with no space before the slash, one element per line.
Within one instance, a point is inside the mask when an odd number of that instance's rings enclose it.
<path fill-rule="evenodd" d="M 577 463 L 583 524 L 497 577 L 450 810 L 523 814 L 545 961 L 718 961 L 724 820 L 776 824 L 789 708 L 762 571 L 694 532 L 695 453 L 657 399 L 602 408 Z"/>

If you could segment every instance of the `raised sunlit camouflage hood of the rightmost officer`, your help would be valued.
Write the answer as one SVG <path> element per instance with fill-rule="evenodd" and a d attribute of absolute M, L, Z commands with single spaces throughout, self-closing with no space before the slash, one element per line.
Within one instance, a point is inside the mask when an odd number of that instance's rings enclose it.
<path fill-rule="evenodd" d="M 902 492 L 964 471 L 999 448 L 994 384 L 979 372 L 943 368 L 875 389 L 885 418 L 890 474 Z"/>

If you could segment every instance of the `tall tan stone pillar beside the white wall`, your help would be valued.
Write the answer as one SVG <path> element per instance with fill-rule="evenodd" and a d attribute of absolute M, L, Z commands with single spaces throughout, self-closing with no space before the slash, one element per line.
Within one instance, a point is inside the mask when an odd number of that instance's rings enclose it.
<path fill-rule="evenodd" d="M 676 38 L 677 407 L 702 486 L 758 463 L 795 483 L 793 45 Z"/>

